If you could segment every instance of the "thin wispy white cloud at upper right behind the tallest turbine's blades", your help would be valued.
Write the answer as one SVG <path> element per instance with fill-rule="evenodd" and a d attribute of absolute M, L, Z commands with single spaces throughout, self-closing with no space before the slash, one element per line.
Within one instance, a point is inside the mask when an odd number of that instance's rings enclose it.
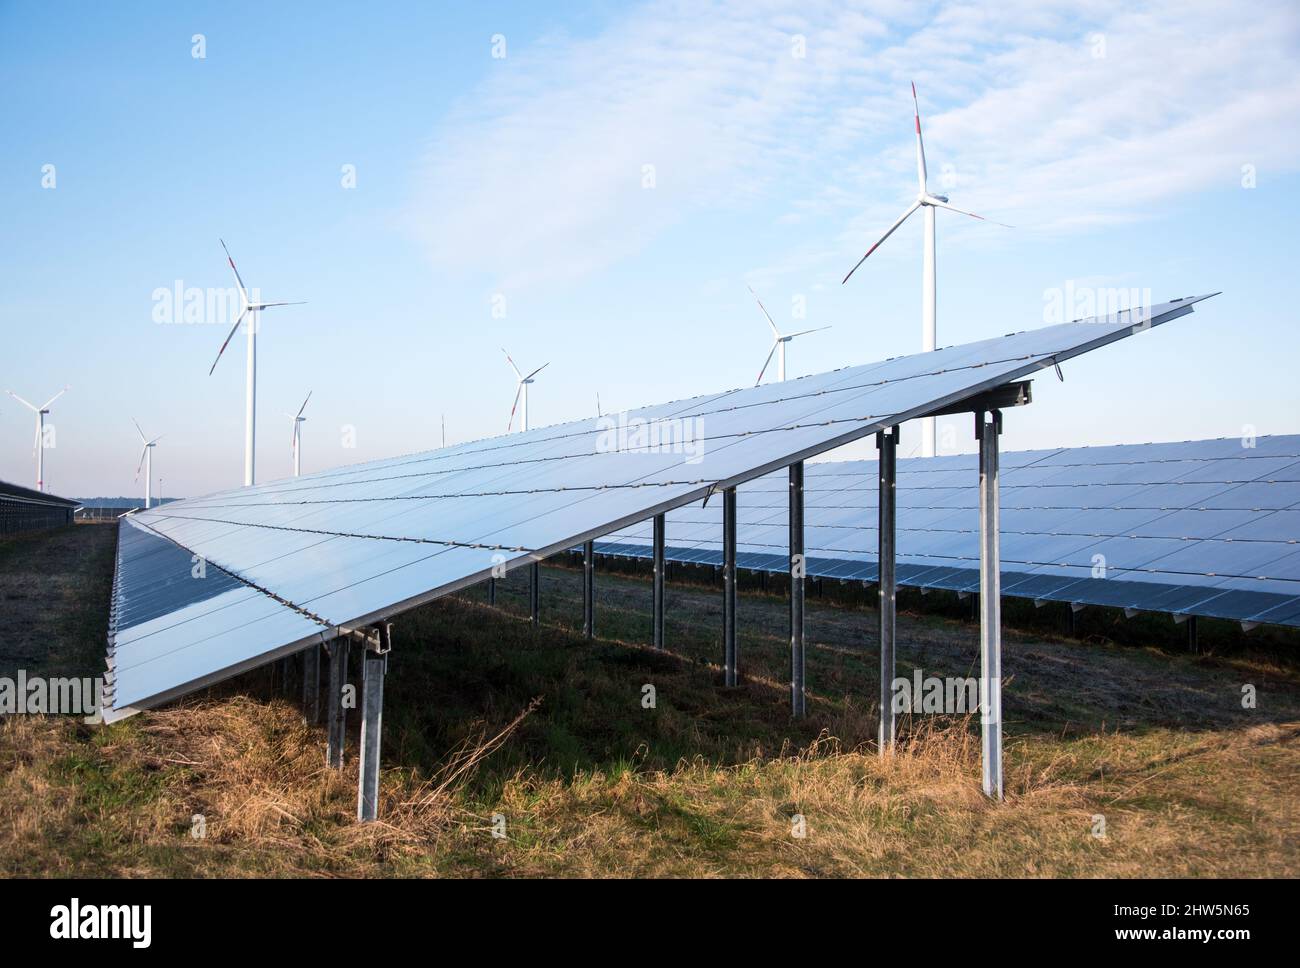
<path fill-rule="evenodd" d="M 828 220 L 772 272 L 842 273 L 913 191 L 915 78 L 932 188 L 952 165 L 954 204 L 1019 231 L 1123 222 L 1235 187 L 1245 164 L 1294 169 L 1296 51 L 1286 0 L 653 3 L 512 47 L 432 143 L 415 220 L 436 264 L 499 287 L 578 278 L 716 208 Z"/>

